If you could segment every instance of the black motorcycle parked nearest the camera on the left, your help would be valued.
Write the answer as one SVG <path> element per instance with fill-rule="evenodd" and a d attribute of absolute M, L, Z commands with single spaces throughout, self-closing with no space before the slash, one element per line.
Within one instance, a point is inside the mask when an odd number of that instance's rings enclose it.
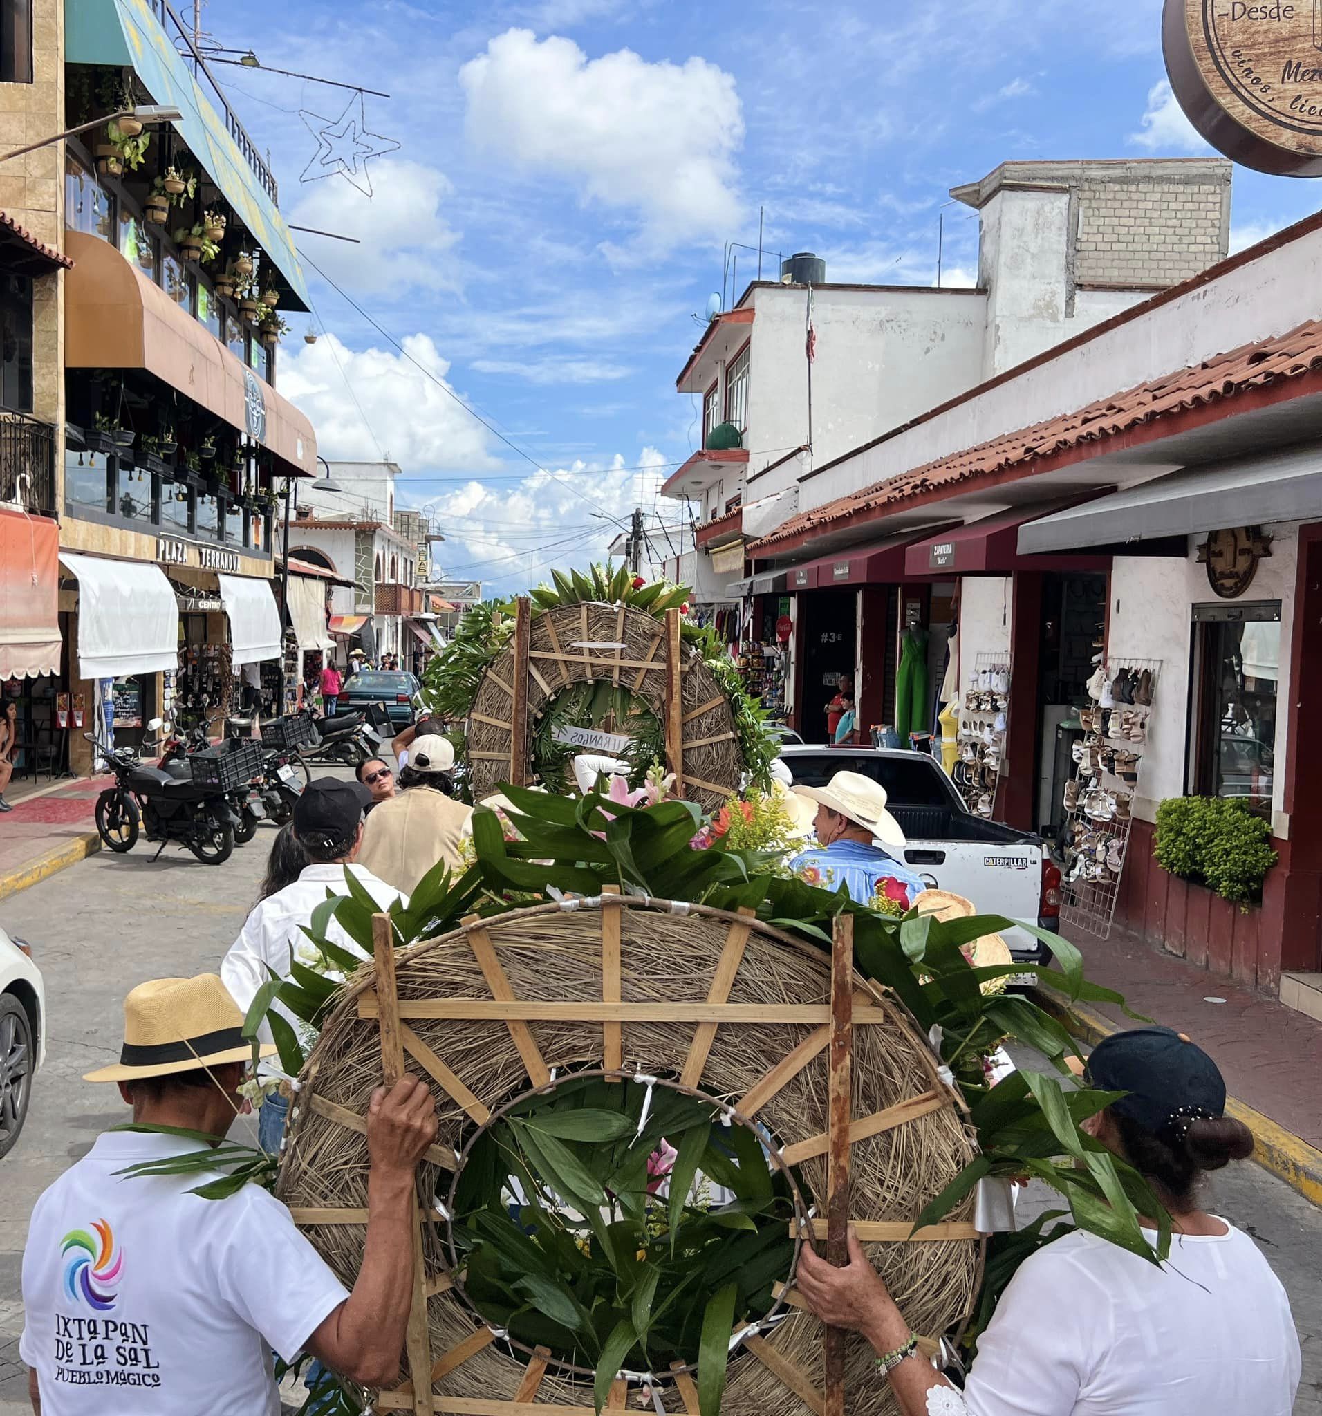
<path fill-rule="evenodd" d="M 161 728 L 161 719 L 153 718 L 147 726 L 154 732 Z M 85 732 L 84 738 L 95 745 L 92 733 Z M 159 743 L 149 746 L 154 749 Z M 219 786 L 183 780 L 173 772 L 149 766 L 134 748 L 109 752 L 98 748 L 96 755 L 115 775 L 115 786 L 96 799 L 96 831 L 106 850 L 122 855 L 146 833 L 149 841 L 160 841 L 154 858 L 176 841 L 204 865 L 229 860 L 242 823 Z"/>

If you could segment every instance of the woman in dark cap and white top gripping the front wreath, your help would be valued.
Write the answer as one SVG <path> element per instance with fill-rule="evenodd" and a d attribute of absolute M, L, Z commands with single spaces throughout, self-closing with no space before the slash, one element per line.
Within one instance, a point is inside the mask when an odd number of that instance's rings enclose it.
<path fill-rule="evenodd" d="M 1127 1093 L 1084 1127 L 1169 1211 L 1165 1263 L 1083 1231 L 1039 1249 L 1001 1294 L 962 1395 L 917 1352 L 852 1231 L 842 1269 L 805 1246 L 795 1287 L 872 1344 L 904 1416 L 1289 1416 L 1301 1355 L 1285 1290 L 1248 1235 L 1199 1208 L 1203 1175 L 1253 1153 L 1216 1063 L 1169 1028 L 1135 1028 L 1094 1048 L 1087 1079 Z"/>

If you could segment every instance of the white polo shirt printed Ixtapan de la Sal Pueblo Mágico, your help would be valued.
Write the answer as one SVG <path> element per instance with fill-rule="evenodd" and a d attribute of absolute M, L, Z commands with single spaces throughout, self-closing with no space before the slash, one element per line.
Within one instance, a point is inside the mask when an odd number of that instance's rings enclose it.
<path fill-rule="evenodd" d="M 197 1150 L 108 1131 L 37 1201 L 23 1255 L 18 1352 L 42 1416 L 279 1416 L 270 1349 L 292 1361 L 347 1297 L 259 1185 L 119 1177 Z"/>

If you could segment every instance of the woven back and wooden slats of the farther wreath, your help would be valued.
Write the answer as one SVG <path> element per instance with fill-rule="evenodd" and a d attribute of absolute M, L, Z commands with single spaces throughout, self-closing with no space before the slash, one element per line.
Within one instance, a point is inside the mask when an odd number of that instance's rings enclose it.
<path fill-rule="evenodd" d="M 531 783 L 529 725 L 562 690 L 609 681 L 641 698 L 665 731 L 672 794 L 716 810 L 740 787 L 730 704 L 702 656 L 681 637 L 678 610 L 657 619 L 626 605 L 515 607 L 514 636 L 483 674 L 469 711 L 473 800 Z M 590 647 L 580 647 L 590 646 Z"/>

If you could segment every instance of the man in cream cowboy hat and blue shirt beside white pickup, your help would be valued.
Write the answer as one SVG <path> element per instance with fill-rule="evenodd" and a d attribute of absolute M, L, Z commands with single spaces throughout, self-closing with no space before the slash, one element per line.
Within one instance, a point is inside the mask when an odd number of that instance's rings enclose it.
<path fill-rule="evenodd" d="M 882 895 L 904 913 L 924 886 L 890 854 L 904 848 L 904 833 L 886 810 L 880 782 L 859 772 L 837 772 L 824 787 L 797 786 L 794 792 L 817 803 L 817 848 L 795 855 L 790 869 L 822 889 L 844 884 L 859 905 Z"/>

